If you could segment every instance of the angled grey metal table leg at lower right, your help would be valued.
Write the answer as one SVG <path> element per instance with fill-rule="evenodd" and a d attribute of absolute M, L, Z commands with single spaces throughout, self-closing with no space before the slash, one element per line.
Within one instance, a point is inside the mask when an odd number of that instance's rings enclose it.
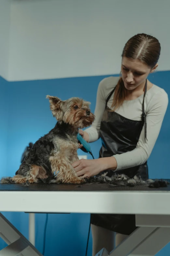
<path fill-rule="evenodd" d="M 169 215 L 136 215 L 136 226 L 139 228 L 106 256 L 154 256 L 170 242 Z"/>

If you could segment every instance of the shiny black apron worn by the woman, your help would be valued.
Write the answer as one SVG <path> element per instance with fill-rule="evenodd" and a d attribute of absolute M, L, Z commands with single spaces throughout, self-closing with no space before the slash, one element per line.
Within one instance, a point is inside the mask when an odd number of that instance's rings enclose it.
<path fill-rule="evenodd" d="M 111 157 L 113 155 L 122 154 L 135 149 L 144 124 L 145 140 L 147 140 L 146 114 L 144 111 L 147 80 L 145 83 L 145 92 L 141 106 L 141 121 L 130 120 L 114 111 L 109 111 L 107 102 L 114 90 L 112 90 L 106 99 L 106 108 L 101 121 L 100 138 L 102 140 L 102 147 L 100 149 L 99 158 Z M 117 173 L 125 174 L 130 178 L 136 175 L 140 176 L 142 179 L 148 179 L 147 162 L 132 168 L 118 170 L 115 172 L 112 170 L 103 171 L 99 175 L 105 172 L 108 173 L 108 176 L 112 176 Z M 91 214 L 91 224 L 125 235 L 130 235 L 137 228 L 135 226 L 135 214 Z"/>

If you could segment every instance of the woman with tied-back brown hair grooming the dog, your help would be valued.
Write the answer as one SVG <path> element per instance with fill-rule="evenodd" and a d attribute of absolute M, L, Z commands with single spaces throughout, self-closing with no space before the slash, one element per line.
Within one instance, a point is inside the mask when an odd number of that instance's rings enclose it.
<path fill-rule="evenodd" d="M 168 105 L 166 92 L 152 84 L 148 75 L 158 64 L 159 41 L 137 34 L 122 52 L 121 77 L 107 77 L 98 86 L 95 121 L 85 131 L 87 142 L 102 140 L 99 159 L 74 162 L 78 176 L 91 177 L 107 170 L 148 178 L 147 160 L 159 135 Z M 80 145 L 81 147 L 82 145 Z M 105 247 L 114 248 L 135 229 L 135 215 L 92 214 L 93 255 Z"/>

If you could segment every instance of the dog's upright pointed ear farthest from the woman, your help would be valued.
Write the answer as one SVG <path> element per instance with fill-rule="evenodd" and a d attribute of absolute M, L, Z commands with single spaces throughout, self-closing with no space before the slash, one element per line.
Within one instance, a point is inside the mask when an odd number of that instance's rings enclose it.
<path fill-rule="evenodd" d="M 52 111 L 52 114 L 58 121 L 61 121 L 64 115 L 63 112 L 63 101 L 54 96 L 47 95 L 46 98 L 49 99 L 50 102 L 50 110 Z"/>

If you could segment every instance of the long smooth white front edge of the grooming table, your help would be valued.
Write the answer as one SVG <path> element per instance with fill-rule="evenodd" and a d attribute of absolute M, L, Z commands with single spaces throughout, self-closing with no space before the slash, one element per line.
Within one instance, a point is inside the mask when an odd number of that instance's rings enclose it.
<path fill-rule="evenodd" d="M 0 191 L 1 212 L 167 215 L 169 201 L 170 191 Z"/>

